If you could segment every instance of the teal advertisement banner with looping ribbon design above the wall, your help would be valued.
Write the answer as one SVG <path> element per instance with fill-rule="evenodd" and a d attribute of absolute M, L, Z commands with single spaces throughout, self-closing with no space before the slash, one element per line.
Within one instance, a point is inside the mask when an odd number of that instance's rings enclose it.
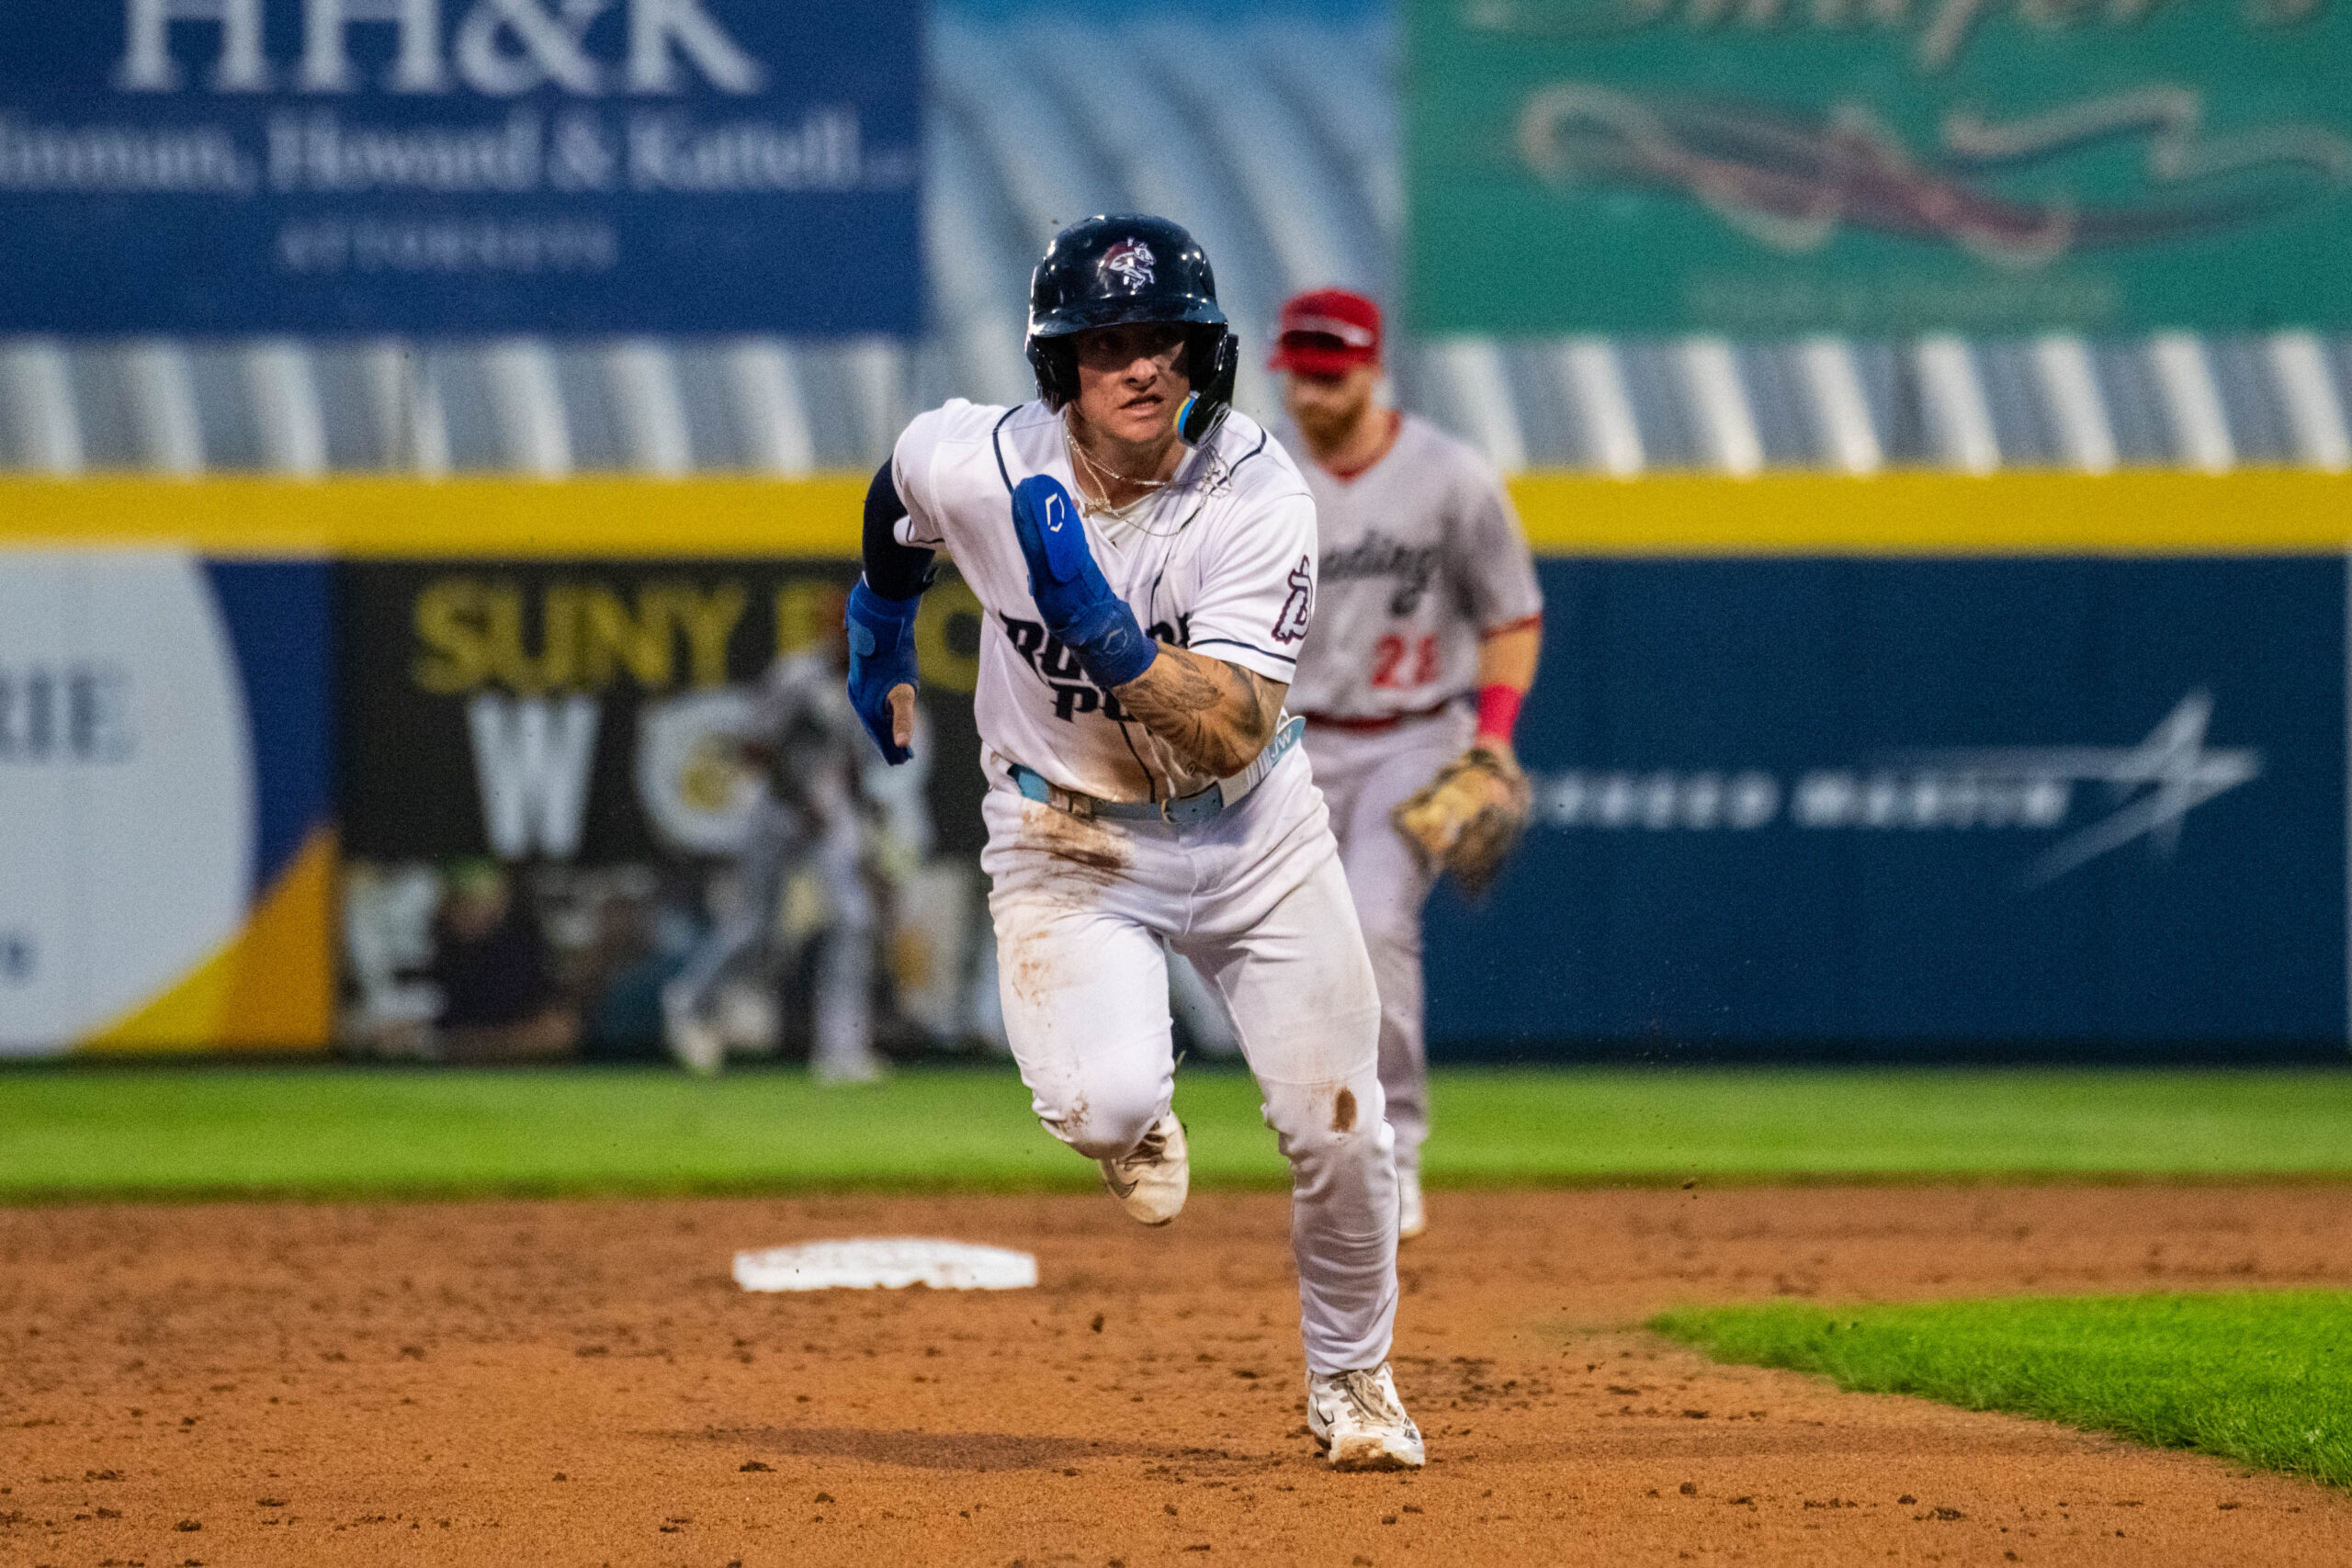
<path fill-rule="evenodd" d="M 1423 331 L 2352 327 L 2343 0 L 1406 0 Z"/>

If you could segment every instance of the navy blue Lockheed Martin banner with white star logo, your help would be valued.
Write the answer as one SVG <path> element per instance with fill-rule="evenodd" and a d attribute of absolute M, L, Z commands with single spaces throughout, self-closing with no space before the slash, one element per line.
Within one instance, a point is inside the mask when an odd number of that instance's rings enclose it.
<path fill-rule="evenodd" d="M 1543 562 L 1456 1051 L 2343 1048 L 2345 562 Z"/>

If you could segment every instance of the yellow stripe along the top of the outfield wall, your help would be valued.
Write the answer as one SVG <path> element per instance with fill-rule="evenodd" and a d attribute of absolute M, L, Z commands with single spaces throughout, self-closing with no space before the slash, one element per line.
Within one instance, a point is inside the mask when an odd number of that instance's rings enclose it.
<path fill-rule="evenodd" d="M 811 480 L 0 480 L 0 545 L 207 555 L 851 557 L 863 475 Z M 2352 477 L 2303 470 L 1653 475 L 1512 482 L 1545 555 L 2333 555 Z"/>

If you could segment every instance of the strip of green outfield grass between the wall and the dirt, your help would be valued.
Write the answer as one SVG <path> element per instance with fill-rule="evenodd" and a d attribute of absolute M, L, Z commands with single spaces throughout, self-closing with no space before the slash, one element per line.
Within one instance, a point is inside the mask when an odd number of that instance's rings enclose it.
<path fill-rule="evenodd" d="M 1439 1185 L 2352 1175 L 2352 1072 L 1449 1070 Z M 1279 1185 L 1240 1072 L 1188 1070 L 1202 1185 Z M 1009 1070 L 5 1067 L 0 1199 L 1054 1190 Z"/>

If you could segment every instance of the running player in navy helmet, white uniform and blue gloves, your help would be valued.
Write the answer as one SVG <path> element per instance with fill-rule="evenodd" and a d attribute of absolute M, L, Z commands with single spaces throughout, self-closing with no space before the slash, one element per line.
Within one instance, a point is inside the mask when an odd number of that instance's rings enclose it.
<path fill-rule="evenodd" d="M 1371 961 L 1282 708 L 1315 503 L 1230 411 L 1240 346 L 1176 223 L 1061 230 L 1030 277 L 1028 355 L 1037 402 L 950 402 L 875 475 L 851 701 L 903 759 L 915 607 L 950 550 L 985 611 L 981 865 L 1037 1119 L 1129 1215 L 1176 1218 L 1167 947 L 1190 957 L 1291 1161 L 1308 1427 L 1338 1469 L 1418 1467 L 1388 1371 L 1397 1173 Z"/>

